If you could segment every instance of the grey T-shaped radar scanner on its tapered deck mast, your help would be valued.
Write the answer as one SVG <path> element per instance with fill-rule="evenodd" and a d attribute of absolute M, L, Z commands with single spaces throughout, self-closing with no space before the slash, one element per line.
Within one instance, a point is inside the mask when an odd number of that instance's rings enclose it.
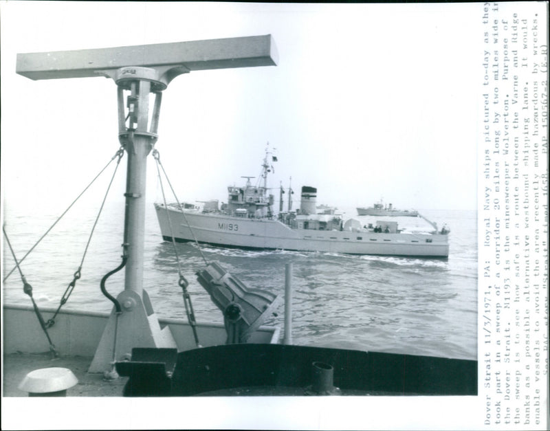
<path fill-rule="evenodd" d="M 32 80 L 104 76 L 117 85 L 118 138 L 128 155 L 124 291 L 116 298 L 120 307 L 111 312 L 90 373 L 108 372 L 136 347 L 176 347 L 168 327 L 160 328 L 143 288 L 146 158 L 157 142 L 162 91 L 175 77 L 190 71 L 272 66 L 276 62 L 270 34 L 17 55 L 17 73 Z"/>

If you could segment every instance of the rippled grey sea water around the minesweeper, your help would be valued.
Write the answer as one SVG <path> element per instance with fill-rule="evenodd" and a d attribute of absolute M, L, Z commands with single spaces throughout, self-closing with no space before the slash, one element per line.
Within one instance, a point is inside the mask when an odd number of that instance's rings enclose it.
<path fill-rule="evenodd" d="M 63 208 L 64 209 L 64 208 Z M 40 214 L 30 208 L 5 208 L 5 229 L 21 259 L 61 211 Z M 110 311 L 100 293 L 104 274 L 120 263 L 123 203 L 107 204 L 96 228 L 67 309 Z M 44 212 L 44 211 L 42 211 Z M 41 307 L 56 307 L 80 265 L 97 210 L 75 206 L 40 243 L 21 267 Z M 250 287 L 283 296 L 285 264 L 294 272 L 294 344 L 476 359 L 477 245 L 475 211 L 421 211 L 450 234 L 448 260 L 349 256 L 312 252 L 252 252 L 203 247 L 210 261 Z M 353 208 L 347 212 L 355 215 Z M 357 217 L 364 224 L 370 217 Z M 399 227 L 426 226 L 421 219 L 394 217 Z M 14 262 L 4 241 L 3 277 Z M 223 322 L 221 311 L 196 280 L 205 266 L 197 245 L 177 244 L 198 322 Z M 147 206 L 144 289 L 160 316 L 185 318 L 172 243 L 162 241 L 153 205 Z M 107 290 L 124 289 L 124 271 Z M 16 271 L 3 284 L 6 302 L 30 304 Z M 283 327 L 284 307 L 266 324 Z"/>

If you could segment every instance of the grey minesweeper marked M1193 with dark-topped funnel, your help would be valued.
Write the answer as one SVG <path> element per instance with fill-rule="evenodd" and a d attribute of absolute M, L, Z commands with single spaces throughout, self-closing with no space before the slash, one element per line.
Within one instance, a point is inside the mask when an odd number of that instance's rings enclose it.
<path fill-rule="evenodd" d="M 273 157 L 273 156 L 271 156 Z M 296 250 L 383 256 L 449 255 L 449 230 L 404 232 L 395 221 L 362 225 L 357 219 L 344 220 L 340 214 L 317 214 L 317 189 L 303 186 L 300 208 L 274 214 L 274 196 L 268 194 L 267 174 L 270 152 L 262 164 L 263 185 L 250 179 L 242 187 L 228 187 L 228 202 L 207 201 L 202 208 L 190 203 L 155 203 L 163 239 L 197 241 L 223 247 L 256 250 Z M 281 189 L 281 202 L 283 190 Z M 172 233 L 173 232 L 173 233 Z"/>

